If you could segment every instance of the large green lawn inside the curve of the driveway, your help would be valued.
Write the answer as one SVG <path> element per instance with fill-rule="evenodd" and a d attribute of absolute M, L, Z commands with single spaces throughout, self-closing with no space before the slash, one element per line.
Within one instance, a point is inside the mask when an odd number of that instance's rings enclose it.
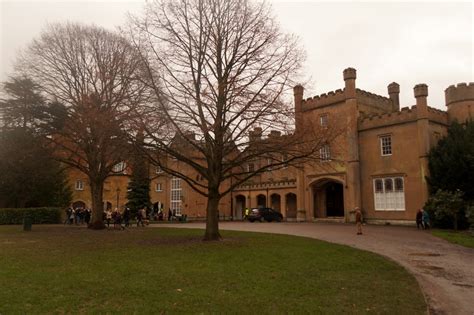
<path fill-rule="evenodd" d="M 260 233 L 0 227 L 0 314 L 422 314 L 414 277 L 381 256 Z"/>

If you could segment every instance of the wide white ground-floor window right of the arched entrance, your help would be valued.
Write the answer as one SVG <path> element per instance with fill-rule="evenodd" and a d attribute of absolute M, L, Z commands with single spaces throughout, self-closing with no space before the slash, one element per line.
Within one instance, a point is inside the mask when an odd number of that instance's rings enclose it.
<path fill-rule="evenodd" d="M 375 210 L 404 211 L 405 189 L 403 177 L 374 179 Z"/>

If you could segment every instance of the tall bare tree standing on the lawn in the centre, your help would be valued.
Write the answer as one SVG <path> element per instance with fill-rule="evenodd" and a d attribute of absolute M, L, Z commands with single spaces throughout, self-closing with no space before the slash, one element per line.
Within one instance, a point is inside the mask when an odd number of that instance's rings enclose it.
<path fill-rule="evenodd" d="M 157 0 L 131 18 L 156 112 L 144 120 L 153 152 L 184 162 L 204 181 L 154 163 L 207 197 L 205 240 L 220 239 L 219 200 L 268 168 L 314 157 L 325 132 L 300 137 L 285 94 L 303 61 L 297 39 L 280 32 L 267 5 L 245 0 Z M 283 136 L 258 140 L 270 129 Z M 300 130 L 301 132 L 302 130 Z M 307 129 L 305 133 L 320 130 Z M 285 158 L 282 159 L 282 154 Z M 254 169 L 249 161 L 268 160 Z M 228 183 L 232 178 L 231 185 Z"/>

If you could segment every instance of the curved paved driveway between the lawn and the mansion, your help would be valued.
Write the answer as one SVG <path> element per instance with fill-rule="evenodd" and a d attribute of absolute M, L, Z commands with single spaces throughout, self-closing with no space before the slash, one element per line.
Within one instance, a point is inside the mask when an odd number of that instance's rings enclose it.
<path fill-rule="evenodd" d="M 155 225 L 204 228 L 204 223 Z M 431 314 L 474 314 L 474 249 L 454 245 L 412 227 L 350 224 L 221 222 L 222 230 L 290 234 L 345 244 L 386 256 L 412 272 Z M 403 288 L 394 288 L 402 290 Z"/>

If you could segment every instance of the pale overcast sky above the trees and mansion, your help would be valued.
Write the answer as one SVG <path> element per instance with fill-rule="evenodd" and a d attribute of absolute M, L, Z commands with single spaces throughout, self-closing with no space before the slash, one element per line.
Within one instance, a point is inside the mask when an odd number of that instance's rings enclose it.
<path fill-rule="evenodd" d="M 114 29 L 145 0 L 0 0 L 0 81 L 15 56 L 47 22 L 77 21 Z M 270 1 L 283 30 L 300 37 L 311 78 L 305 98 L 344 86 L 342 71 L 357 69 L 358 88 L 387 95 L 400 84 L 401 106 L 415 103 L 413 87 L 429 86 L 430 106 L 445 109 L 444 89 L 474 81 L 473 2 Z"/>

